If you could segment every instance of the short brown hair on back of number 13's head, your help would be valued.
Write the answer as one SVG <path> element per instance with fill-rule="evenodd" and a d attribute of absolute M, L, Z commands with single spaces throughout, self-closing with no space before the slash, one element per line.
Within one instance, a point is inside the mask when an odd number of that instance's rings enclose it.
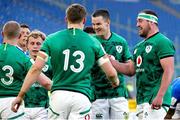
<path fill-rule="evenodd" d="M 86 17 L 86 9 L 80 4 L 72 4 L 66 9 L 66 17 L 70 23 L 80 23 Z"/>

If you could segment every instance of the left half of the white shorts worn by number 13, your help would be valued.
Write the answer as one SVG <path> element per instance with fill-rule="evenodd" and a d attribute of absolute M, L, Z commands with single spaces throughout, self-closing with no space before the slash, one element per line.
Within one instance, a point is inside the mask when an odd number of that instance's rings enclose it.
<path fill-rule="evenodd" d="M 56 90 L 50 96 L 48 119 L 67 119 L 73 95 L 69 91 Z"/>

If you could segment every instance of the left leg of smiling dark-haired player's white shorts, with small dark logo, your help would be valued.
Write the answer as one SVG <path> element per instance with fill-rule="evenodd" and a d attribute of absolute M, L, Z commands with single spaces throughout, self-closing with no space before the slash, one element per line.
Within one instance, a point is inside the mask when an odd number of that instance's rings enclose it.
<path fill-rule="evenodd" d="M 97 99 L 92 103 L 91 119 L 109 119 L 108 99 Z"/>

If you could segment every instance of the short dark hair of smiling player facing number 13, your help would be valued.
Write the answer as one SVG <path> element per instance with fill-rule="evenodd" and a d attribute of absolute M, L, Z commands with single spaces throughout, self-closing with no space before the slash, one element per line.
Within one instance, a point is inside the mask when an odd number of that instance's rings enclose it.
<path fill-rule="evenodd" d="M 98 9 L 93 12 L 92 17 L 102 16 L 104 19 L 110 19 L 110 14 L 106 9 Z"/>

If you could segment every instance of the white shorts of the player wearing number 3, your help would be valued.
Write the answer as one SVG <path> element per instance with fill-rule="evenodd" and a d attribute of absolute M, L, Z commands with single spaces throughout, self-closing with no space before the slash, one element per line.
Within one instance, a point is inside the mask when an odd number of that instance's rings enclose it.
<path fill-rule="evenodd" d="M 11 104 L 14 99 L 15 97 L 0 99 L 0 106 L 1 108 L 4 108 L 2 111 L 0 111 L 2 119 L 16 119 L 16 120 L 24 119 L 24 103 L 20 105 L 16 113 L 11 110 Z"/>

